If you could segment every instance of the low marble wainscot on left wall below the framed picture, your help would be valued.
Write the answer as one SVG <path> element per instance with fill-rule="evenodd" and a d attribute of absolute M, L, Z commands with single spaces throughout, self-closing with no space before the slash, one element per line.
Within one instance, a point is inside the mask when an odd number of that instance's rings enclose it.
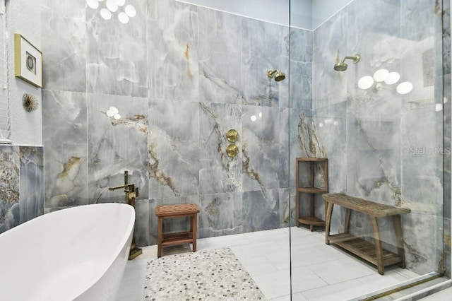
<path fill-rule="evenodd" d="M 43 162 L 40 146 L 0 146 L 0 233 L 43 214 Z"/>

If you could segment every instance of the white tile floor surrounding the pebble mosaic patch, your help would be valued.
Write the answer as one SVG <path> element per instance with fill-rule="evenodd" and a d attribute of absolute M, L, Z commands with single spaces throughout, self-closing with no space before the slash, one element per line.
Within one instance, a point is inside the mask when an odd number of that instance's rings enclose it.
<path fill-rule="evenodd" d="M 381 276 L 374 266 L 325 244 L 324 232 L 292 229 L 292 300 L 347 300 L 418 276 L 398 266 Z M 230 247 L 268 300 L 290 300 L 289 228 L 210 237 L 197 250 Z M 164 253 L 165 255 L 165 253 Z M 126 266 L 118 301 L 142 301 L 145 264 L 157 246 Z"/>

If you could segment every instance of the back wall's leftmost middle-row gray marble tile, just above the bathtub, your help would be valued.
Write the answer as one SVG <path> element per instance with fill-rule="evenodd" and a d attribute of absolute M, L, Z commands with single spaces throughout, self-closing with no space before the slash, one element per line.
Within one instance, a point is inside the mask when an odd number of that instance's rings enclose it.
<path fill-rule="evenodd" d="M 88 203 L 87 104 L 84 93 L 42 91 L 44 207 Z"/>

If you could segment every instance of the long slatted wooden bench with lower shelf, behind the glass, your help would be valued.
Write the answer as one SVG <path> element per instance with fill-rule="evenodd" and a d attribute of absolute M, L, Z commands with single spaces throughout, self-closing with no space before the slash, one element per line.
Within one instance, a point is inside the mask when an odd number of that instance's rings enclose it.
<path fill-rule="evenodd" d="M 326 202 L 326 244 L 330 244 L 330 242 L 337 244 L 339 247 L 375 264 L 381 275 L 384 273 L 384 267 L 390 266 L 391 264 L 399 264 L 400 267 L 405 268 L 405 250 L 403 247 L 400 214 L 409 213 L 410 209 L 359 199 L 347 196 L 347 194 L 323 194 L 322 196 Z M 347 209 L 345 213 L 345 229 L 343 233 L 330 235 L 331 215 L 333 213 L 334 204 Z M 362 238 L 355 237 L 348 232 L 351 211 L 358 211 L 369 216 L 373 228 L 374 244 L 371 244 Z M 393 219 L 398 254 L 389 252 L 381 247 L 379 225 L 376 218 L 383 218 L 386 216 L 392 216 Z"/>

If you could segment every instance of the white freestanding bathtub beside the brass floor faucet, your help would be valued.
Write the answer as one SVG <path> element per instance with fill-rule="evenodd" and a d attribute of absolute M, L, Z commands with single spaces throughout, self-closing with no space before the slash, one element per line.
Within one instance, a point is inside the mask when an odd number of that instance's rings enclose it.
<path fill-rule="evenodd" d="M 39 216 L 0 234 L 0 299 L 115 300 L 135 222 L 99 203 Z"/>

